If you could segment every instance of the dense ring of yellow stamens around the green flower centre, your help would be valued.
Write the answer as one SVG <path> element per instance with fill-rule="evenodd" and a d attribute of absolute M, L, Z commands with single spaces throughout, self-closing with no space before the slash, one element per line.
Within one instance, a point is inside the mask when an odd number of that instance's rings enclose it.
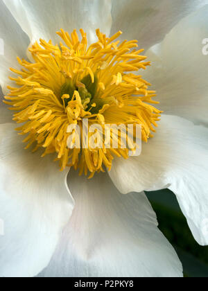
<path fill-rule="evenodd" d="M 56 153 L 62 170 L 73 166 L 80 169 L 80 175 L 93 177 L 105 167 L 110 170 L 114 156 L 129 157 L 135 130 L 126 146 L 119 132 L 116 148 L 106 146 L 103 135 L 102 146 L 93 147 L 85 140 L 85 135 L 93 135 L 85 132 L 86 120 L 89 126 L 99 125 L 96 133 L 106 124 L 140 125 L 141 139 L 147 142 L 161 112 L 151 105 L 157 102 L 153 100 L 155 91 L 148 90 L 150 84 L 133 73 L 150 65 L 140 55 L 143 50 L 137 50 L 136 40 L 119 42 L 115 39 L 121 32 L 109 38 L 96 30 L 98 42 L 87 47 L 87 35 L 82 29 L 80 33 L 81 39 L 76 30 L 71 35 L 58 32 L 65 44 L 53 45 L 44 39 L 35 42 L 29 49 L 34 62 L 17 58 L 22 69 L 11 69 L 18 75 L 10 78 L 17 86 L 8 87 L 10 94 L 4 103 L 15 111 L 14 120 L 23 123 L 17 130 L 27 134 L 26 148 L 44 148 L 42 156 Z M 69 130 L 71 125 L 80 127 L 80 147 L 71 146 L 78 137 L 76 127 Z M 110 144 L 115 138 L 110 131 Z"/>

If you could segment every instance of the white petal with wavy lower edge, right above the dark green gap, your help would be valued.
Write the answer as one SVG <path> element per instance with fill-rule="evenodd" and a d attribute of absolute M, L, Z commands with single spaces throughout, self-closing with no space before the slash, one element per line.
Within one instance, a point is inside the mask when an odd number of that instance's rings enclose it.
<path fill-rule="evenodd" d="M 177 116 L 162 116 L 141 156 L 115 159 L 110 177 L 122 193 L 169 188 L 189 227 L 208 245 L 208 129 Z"/>

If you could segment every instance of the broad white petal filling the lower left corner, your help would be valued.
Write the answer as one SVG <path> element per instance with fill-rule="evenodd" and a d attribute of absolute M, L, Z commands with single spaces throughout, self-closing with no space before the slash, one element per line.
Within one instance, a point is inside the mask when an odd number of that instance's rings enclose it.
<path fill-rule="evenodd" d="M 67 173 L 53 157 L 24 150 L 14 127 L 0 125 L 0 276 L 35 276 L 51 259 L 73 199 Z"/>

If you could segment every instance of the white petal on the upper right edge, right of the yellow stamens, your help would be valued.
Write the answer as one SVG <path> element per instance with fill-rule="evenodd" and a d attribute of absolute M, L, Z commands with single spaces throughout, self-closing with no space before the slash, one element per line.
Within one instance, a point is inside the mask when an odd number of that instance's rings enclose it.
<path fill-rule="evenodd" d="M 144 78 L 157 91 L 166 114 L 208 124 L 208 6 L 180 21 L 164 42 L 146 53 L 152 66 Z M 202 44 L 202 41 L 204 44 Z"/>

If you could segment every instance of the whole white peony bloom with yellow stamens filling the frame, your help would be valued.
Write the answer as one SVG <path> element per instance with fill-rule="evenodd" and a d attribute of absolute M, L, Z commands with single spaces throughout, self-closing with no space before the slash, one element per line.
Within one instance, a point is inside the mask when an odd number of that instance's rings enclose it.
<path fill-rule="evenodd" d="M 208 0 L 0 11 L 0 276 L 182 277 L 145 191 L 170 189 L 208 245 Z M 141 155 L 70 152 L 83 118 L 138 123 Z"/>

